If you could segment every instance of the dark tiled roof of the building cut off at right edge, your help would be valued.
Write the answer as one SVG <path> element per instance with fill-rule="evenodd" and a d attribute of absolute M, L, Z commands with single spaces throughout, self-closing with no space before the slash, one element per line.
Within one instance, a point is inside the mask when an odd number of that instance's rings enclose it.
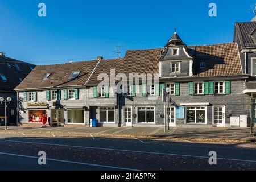
<path fill-rule="evenodd" d="M 250 35 L 256 28 L 256 22 L 236 23 L 235 27 L 242 48 L 256 47 L 256 42 L 253 36 Z"/>

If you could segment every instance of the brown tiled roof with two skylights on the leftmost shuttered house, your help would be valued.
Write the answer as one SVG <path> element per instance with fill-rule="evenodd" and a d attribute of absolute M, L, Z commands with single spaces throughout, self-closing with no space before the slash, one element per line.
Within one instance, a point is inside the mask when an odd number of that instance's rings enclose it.
<path fill-rule="evenodd" d="M 82 86 L 92 74 L 98 60 L 80 61 L 65 64 L 39 65 L 15 89 L 40 89 L 64 86 Z M 81 71 L 73 80 L 69 76 L 73 71 Z M 48 79 L 43 79 L 46 73 L 51 73 Z"/>

